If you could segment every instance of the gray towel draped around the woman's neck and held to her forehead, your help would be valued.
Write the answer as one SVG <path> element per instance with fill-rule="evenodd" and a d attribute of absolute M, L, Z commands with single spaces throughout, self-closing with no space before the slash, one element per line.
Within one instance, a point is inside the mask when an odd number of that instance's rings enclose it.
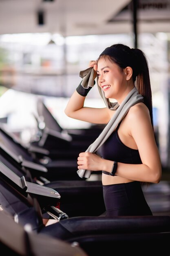
<path fill-rule="evenodd" d="M 91 70 L 90 70 L 91 69 Z M 93 68 L 88 68 L 88 77 L 90 77 L 89 72 L 91 72 Z M 86 74 L 86 75 L 87 75 Z M 92 84 L 93 82 L 89 81 L 87 79 L 86 75 L 84 76 L 86 82 L 84 83 L 84 88 L 88 88 L 89 86 L 93 87 Z M 89 84 L 91 83 L 91 84 Z M 98 85 L 98 83 L 97 83 Z M 104 102 L 106 106 L 111 109 L 115 110 L 115 114 L 113 117 L 110 119 L 108 124 L 105 126 L 104 130 L 100 133 L 99 137 L 87 148 L 85 152 L 91 152 L 95 153 L 97 149 L 102 146 L 102 144 L 108 139 L 108 137 L 112 134 L 112 132 L 115 130 L 119 122 L 124 118 L 124 116 L 127 114 L 128 110 L 134 106 L 138 102 L 144 102 L 144 97 L 138 93 L 137 88 L 133 88 L 124 101 L 119 105 L 117 102 L 116 103 L 110 103 L 108 99 L 105 98 L 104 92 L 101 90 L 101 88 L 98 86 L 100 95 L 104 99 Z M 91 176 L 91 171 L 90 170 L 84 170 L 84 169 L 79 169 L 77 171 L 79 177 L 83 178 L 89 178 Z"/>

